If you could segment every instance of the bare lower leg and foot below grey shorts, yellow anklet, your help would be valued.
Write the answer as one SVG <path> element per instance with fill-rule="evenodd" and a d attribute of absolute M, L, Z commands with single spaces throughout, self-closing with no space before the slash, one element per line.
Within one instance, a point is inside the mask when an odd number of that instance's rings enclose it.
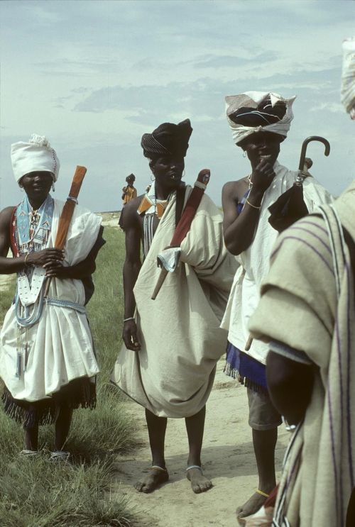
<path fill-rule="evenodd" d="M 253 447 L 259 477 L 258 489 L 265 494 L 270 494 L 276 486 L 275 446 L 277 440 L 278 428 L 271 430 L 253 429 Z M 265 500 L 266 497 L 255 492 L 244 505 L 236 509 L 237 517 L 244 518 L 254 514 L 261 508 Z"/>

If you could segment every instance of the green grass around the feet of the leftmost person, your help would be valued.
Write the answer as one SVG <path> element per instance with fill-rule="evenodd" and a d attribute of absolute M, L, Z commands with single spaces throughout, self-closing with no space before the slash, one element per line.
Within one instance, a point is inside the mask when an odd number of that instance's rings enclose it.
<path fill-rule="evenodd" d="M 124 497 L 110 496 L 115 453 L 134 446 L 134 425 L 126 415 L 109 372 L 121 345 L 123 311 L 121 268 L 124 236 L 105 228 L 107 244 L 97 257 L 96 291 L 89 302 L 89 321 L 102 373 L 97 384 L 97 409 L 77 410 L 67 448 L 71 465 L 48 462 L 53 426 L 40 429 L 43 453 L 22 459 L 23 431 L 0 410 L 0 526 L 96 527 L 133 525 Z M 0 323 L 11 304 L 13 290 L 1 293 Z M 136 523 L 135 523 L 136 525 Z"/>

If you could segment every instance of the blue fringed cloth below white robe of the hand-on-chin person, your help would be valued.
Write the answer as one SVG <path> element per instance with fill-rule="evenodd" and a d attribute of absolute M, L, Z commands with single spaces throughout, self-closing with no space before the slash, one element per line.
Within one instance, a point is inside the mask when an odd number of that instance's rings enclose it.
<path fill-rule="evenodd" d="M 226 365 L 224 372 L 238 379 L 241 384 L 255 392 L 267 391 L 266 366 L 253 359 L 230 342 L 226 347 Z"/>

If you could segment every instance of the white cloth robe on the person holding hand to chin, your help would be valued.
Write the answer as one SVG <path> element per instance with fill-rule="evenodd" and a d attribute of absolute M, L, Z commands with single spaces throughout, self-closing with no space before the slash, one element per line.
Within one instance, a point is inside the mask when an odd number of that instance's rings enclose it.
<path fill-rule="evenodd" d="M 262 364 L 266 363 L 268 346 L 260 340 L 253 340 L 250 350 L 246 351 L 245 345 L 249 338 L 249 318 L 258 305 L 261 282 L 268 273 L 271 250 L 278 237 L 278 231 L 275 231 L 268 223 L 270 216 L 268 207 L 293 186 L 297 174 L 280 165 L 278 161 L 275 162 L 273 170 L 276 175 L 263 196 L 253 243 L 239 256 L 241 266 L 234 277 L 226 313 L 221 324 L 222 328 L 229 331 L 230 343 Z M 304 180 L 303 197 L 310 212 L 315 211 L 317 205 L 333 201 L 329 192 L 314 177 L 307 177 Z"/>

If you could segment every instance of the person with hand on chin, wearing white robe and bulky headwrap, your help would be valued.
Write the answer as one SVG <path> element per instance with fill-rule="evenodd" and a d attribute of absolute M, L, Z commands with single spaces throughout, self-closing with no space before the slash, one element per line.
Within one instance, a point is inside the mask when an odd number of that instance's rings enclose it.
<path fill-rule="evenodd" d="M 258 510 L 275 487 L 275 444 L 281 423 L 266 387 L 268 348 L 254 340 L 250 343 L 248 322 L 259 299 L 259 289 L 268 272 L 268 260 L 278 232 L 268 222 L 268 207 L 295 182 L 296 172 L 277 161 L 280 143 L 293 119 L 295 97 L 249 91 L 226 97 L 226 116 L 234 143 L 251 162 L 249 176 L 226 183 L 222 191 L 224 241 L 226 248 L 239 255 L 222 327 L 229 331 L 226 372 L 248 389 L 249 425 L 258 466 L 258 489 L 237 509 L 239 521 Z M 303 182 L 308 211 L 331 201 L 331 196 L 314 178 Z"/>

